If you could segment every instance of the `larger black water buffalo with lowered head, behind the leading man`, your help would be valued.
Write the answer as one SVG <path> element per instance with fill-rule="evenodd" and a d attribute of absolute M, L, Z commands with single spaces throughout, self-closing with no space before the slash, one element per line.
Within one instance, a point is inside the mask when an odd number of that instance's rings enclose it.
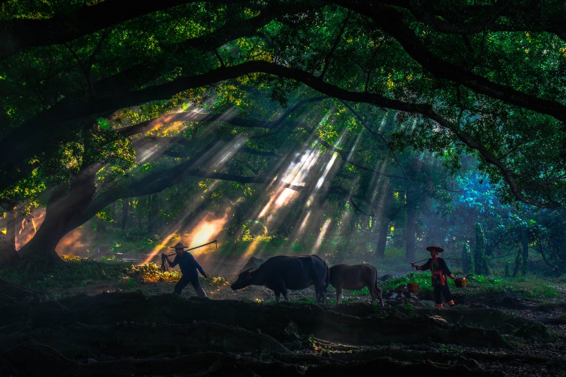
<path fill-rule="evenodd" d="M 236 290 L 252 284 L 263 285 L 273 289 L 277 302 L 279 302 L 281 294 L 283 294 L 286 302 L 289 302 L 288 289 L 305 289 L 314 284 L 315 304 L 318 304 L 320 300 L 326 303 L 329 267 L 317 255 L 300 255 L 297 257 L 277 255 L 266 260 L 257 270 L 251 270 L 242 271 L 230 287 Z"/>

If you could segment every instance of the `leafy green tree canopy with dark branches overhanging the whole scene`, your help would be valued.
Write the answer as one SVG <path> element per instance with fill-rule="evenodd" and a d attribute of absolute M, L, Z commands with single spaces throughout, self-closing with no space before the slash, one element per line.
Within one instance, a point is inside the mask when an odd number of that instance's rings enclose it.
<path fill-rule="evenodd" d="M 375 177 L 449 188 L 408 148 L 473 156 L 504 202 L 564 204 L 563 1 L 0 6 L 0 197 L 52 189 L 74 211 L 45 232 L 187 177 L 322 187 L 368 213 Z M 320 174 L 284 180 L 313 143 Z"/>

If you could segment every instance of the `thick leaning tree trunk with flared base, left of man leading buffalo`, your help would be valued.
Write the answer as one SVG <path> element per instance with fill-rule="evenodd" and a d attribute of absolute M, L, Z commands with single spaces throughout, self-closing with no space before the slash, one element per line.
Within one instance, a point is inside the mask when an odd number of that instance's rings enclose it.
<path fill-rule="evenodd" d="M 46 215 L 34 238 L 19 251 L 26 268 L 61 262 L 55 247 L 70 229 L 72 224 L 92 202 L 95 195 L 95 175 L 99 166 L 90 166 L 61 184 L 50 196 Z"/>

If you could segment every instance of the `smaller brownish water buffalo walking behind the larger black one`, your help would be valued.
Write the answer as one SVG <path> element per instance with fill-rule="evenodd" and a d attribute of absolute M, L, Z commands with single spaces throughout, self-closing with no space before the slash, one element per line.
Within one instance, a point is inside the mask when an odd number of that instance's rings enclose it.
<path fill-rule="evenodd" d="M 378 287 L 378 270 L 370 264 L 336 264 L 330 268 L 330 284 L 336 289 L 336 302 L 342 303 L 342 289 L 356 291 L 367 287 L 371 302 L 379 299 L 383 306 L 381 289 Z"/>

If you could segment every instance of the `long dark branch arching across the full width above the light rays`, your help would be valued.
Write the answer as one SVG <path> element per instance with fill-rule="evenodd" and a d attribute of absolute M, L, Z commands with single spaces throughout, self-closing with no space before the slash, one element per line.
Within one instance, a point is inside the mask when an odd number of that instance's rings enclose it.
<path fill-rule="evenodd" d="M 374 104 L 382 108 L 391 108 L 407 113 L 418 113 L 429 117 L 440 124 L 440 126 L 452 131 L 453 134 L 467 146 L 479 151 L 482 157 L 484 157 L 489 164 L 496 166 L 501 171 L 505 181 L 509 184 L 511 192 L 518 200 L 535 206 L 540 206 L 542 208 L 556 208 L 559 206 L 556 202 L 541 203 L 536 200 L 531 200 L 523 195 L 515 182 L 513 173 L 509 170 L 509 168 L 507 168 L 507 166 L 505 166 L 505 164 L 500 162 L 500 160 L 490 153 L 485 146 L 476 140 L 471 139 L 469 135 L 463 133 L 447 119 L 436 113 L 429 104 L 413 104 L 396 99 L 389 99 L 376 93 L 351 92 L 333 84 L 326 83 L 322 81 L 320 77 L 315 77 L 303 70 L 288 68 L 278 64 L 269 63 L 267 61 L 248 61 L 236 66 L 217 68 L 216 70 L 211 70 L 210 72 L 206 72 L 202 75 L 180 77 L 179 79 L 175 79 L 167 84 L 151 86 L 142 90 L 130 92 L 128 95 L 107 97 L 104 99 L 97 99 L 92 102 L 82 102 L 75 106 L 54 106 L 50 110 L 47 110 L 43 117 L 31 119 L 23 126 L 17 128 L 17 130 L 12 131 L 12 133 L 2 140 L 2 146 L 4 148 L 0 148 L 0 173 L 2 174 L 0 178 L 10 177 L 8 172 L 23 169 L 26 166 L 25 162 L 35 155 L 36 148 L 40 148 L 41 145 L 45 145 L 46 143 L 56 142 L 59 135 L 53 132 L 46 132 L 46 128 L 43 126 L 44 124 L 68 122 L 72 119 L 86 117 L 88 115 L 92 116 L 95 114 L 99 116 L 106 116 L 118 108 L 144 104 L 148 101 L 157 99 L 168 99 L 176 93 L 187 90 L 188 88 L 198 88 L 200 86 L 206 86 L 218 81 L 233 79 L 235 77 L 240 77 L 254 72 L 264 72 L 287 79 L 293 79 L 310 86 L 314 90 L 318 90 L 320 93 L 345 101 Z M 72 126 L 72 123 L 69 122 L 68 126 Z M 19 143 L 19 140 L 23 139 L 24 135 L 26 136 L 25 146 Z M 30 137 L 30 135 L 32 135 L 32 137 Z M 2 182 L 2 184 L 0 184 L 0 189 L 4 189 L 11 183 L 8 181 L 8 179 L 1 179 L 0 182 Z"/>

